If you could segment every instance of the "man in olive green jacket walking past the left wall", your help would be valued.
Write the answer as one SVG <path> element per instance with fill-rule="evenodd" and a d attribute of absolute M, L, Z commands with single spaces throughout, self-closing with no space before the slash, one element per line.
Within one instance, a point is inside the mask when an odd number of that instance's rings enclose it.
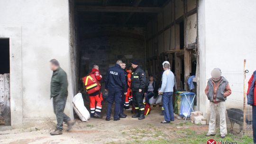
<path fill-rule="evenodd" d="M 64 114 L 64 108 L 68 96 L 67 74 L 55 59 L 50 61 L 50 67 L 53 71 L 51 79 L 51 98 L 53 98 L 54 112 L 57 118 L 56 130 L 51 132 L 50 135 L 62 135 L 63 121 L 68 125 L 67 131 L 69 131 L 74 125 L 74 122 Z"/>

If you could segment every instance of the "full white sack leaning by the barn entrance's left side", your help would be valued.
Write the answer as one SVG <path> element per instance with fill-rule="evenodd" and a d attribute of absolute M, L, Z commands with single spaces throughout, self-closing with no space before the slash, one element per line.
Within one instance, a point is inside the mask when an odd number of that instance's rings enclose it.
<path fill-rule="evenodd" d="M 88 122 L 90 119 L 89 111 L 84 107 L 82 93 L 78 93 L 73 97 L 73 108 L 82 121 Z"/>

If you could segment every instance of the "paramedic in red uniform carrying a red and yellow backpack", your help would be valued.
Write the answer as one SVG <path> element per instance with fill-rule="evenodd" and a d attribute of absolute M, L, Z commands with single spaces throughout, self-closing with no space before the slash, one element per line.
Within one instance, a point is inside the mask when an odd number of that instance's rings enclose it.
<path fill-rule="evenodd" d="M 102 76 L 101 73 L 99 71 L 99 66 L 97 64 L 93 65 L 93 69 L 91 70 L 91 73 L 93 73 L 96 77 L 96 79 L 99 81 L 99 83 L 101 82 Z M 90 94 L 89 96 L 90 99 L 90 108 L 91 108 L 91 117 L 94 118 L 102 118 L 101 115 L 101 101 L 102 99 L 102 95 L 101 95 L 101 91 L 96 91 L 92 94 Z M 96 105 L 95 105 L 96 103 Z"/>

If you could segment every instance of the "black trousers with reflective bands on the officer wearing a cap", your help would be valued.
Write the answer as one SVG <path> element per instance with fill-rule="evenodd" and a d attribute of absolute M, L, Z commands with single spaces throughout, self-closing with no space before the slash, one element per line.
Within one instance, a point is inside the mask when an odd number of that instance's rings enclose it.
<path fill-rule="evenodd" d="M 139 110 L 140 114 L 144 114 L 145 105 L 143 103 L 143 99 L 144 99 L 143 92 L 133 91 L 132 95 L 133 95 L 133 104 L 135 109 Z"/>

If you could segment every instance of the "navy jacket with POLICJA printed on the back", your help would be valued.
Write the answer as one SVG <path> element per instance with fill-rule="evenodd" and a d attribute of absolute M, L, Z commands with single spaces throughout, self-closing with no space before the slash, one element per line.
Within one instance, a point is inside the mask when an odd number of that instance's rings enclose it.
<path fill-rule="evenodd" d="M 122 90 L 127 92 L 127 82 L 125 80 L 124 70 L 119 64 L 110 67 L 105 77 L 106 90 Z"/>

